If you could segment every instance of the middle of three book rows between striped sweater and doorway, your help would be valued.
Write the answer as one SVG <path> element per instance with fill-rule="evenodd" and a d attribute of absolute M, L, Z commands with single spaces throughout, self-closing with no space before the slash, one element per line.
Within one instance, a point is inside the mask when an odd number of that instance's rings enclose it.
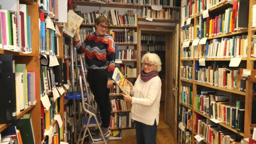
<path fill-rule="evenodd" d="M 116 60 L 137 60 L 137 50 L 136 49 L 120 49 L 118 50 L 118 45 L 116 44 Z"/>

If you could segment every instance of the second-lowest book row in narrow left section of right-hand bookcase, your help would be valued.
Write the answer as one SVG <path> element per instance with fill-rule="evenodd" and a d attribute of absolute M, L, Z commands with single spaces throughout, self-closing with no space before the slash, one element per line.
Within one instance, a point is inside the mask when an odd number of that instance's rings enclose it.
<path fill-rule="evenodd" d="M 187 130 L 192 130 L 192 110 L 179 104 L 178 121 L 185 125 Z"/>

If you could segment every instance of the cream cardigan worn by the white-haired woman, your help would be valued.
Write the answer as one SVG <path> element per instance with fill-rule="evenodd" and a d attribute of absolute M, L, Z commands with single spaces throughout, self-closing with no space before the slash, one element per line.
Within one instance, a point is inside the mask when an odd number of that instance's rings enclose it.
<path fill-rule="evenodd" d="M 143 82 L 138 76 L 134 88 L 131 90 L 131 118 L 143 124 L 153 125 L 159 121 L 159 108 L 161 98 L 161 79 L 159 76 Z"/>

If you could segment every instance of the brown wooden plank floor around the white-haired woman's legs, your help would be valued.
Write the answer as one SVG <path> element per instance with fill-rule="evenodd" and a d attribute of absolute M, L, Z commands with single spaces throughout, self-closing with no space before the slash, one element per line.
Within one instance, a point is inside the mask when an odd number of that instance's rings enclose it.
<path fill-rule="evenodd" d="M 172 130 L 163 120 L 164 104 L 161 103 L 159 124 L 157 126 L 157 144 L 174 144 Z M 136 135 L 122 136 L 122 140 L 109 141 L 108 144 L 137 144 Z"/>

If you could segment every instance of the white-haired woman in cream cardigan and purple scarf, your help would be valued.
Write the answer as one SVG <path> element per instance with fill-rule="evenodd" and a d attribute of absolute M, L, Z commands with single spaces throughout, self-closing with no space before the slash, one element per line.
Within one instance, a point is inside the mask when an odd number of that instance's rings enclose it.
<path fill-rule="evenodd" d="M 156 144 L 157 125 L 161 98 L 161 60 L 155 53 L 146 53 L 142 58 L 140 72 L 130 95 L 122 94 L 125 101 L 131 101 L 131 118 L 135 121 L 137 144 Z"/>

